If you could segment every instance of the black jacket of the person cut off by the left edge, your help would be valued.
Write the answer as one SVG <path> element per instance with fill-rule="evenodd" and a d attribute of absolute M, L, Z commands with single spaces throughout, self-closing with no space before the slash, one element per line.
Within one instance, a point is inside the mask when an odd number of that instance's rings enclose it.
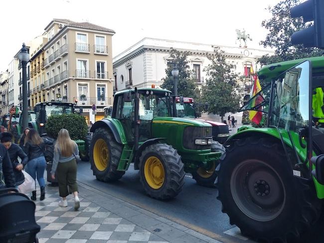
<path fill-rule="evenodd" d="M 12 165 L 6 148 L 0 144 L 0 188 L 15 186 Z"/>

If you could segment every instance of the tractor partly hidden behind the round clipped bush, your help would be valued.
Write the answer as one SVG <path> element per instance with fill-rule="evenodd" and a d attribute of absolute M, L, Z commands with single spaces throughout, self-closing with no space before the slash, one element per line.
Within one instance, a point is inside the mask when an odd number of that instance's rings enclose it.
<path fill-rule="evenodd" d="M 38 133 L 42 137 L 46 137 L 47 139 L 54 142 L 54 139 L 49 138 L 46 134 L 45 126 L 47 118 L 52 115 L 63 115 L 63 114 L 73 114 L 76 113 L 76 105 L 73 103 L 60 102 L 60 101 L 51 101 L 51 102 L 40 102 L 37 103 L 34 107 L 34 111 L 36 112 L 36 119 L 34 121 L 29 122 L 31 128 L 36 128 Z M 82 108 L 80 108 L 80 113 L 82 113 Z M 89 153 L 87 145 L 87 138 L 85 140 L 76 140 L 76 144 L 78 145 L 80 152 L 80 159 L 82 161 L 89 161 Z M 53 148 L 52 148 L 53 149 Z M 52 154 L 52 152 L 50 153 Z M 52 155 L 47 158 L 47 161 L 52 161 Z"/>

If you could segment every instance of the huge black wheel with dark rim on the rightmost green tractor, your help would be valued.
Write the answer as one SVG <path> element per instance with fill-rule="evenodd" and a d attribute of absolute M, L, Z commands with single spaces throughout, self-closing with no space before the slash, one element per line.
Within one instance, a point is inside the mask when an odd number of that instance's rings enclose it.
<path fill-rule="evenodd" d="M 293 176 L 282 145 L 273 140 L 235 141 L 216 171 L 222 212 L 256 241 L 297 242 L 321 214 L 313 183 Z"/>

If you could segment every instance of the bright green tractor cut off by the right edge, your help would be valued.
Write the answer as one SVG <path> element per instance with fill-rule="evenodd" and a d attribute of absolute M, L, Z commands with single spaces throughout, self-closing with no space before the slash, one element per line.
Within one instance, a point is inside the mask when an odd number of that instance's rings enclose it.
<path fill-rule="evenodd" d="M 243 235 L 297 242 L 324 199 L 324 56 L 264 66 L 266 85 L 240 110 L 262 111 L 267 127 L 240 127 L 216 169 L 217 199 Z"/>

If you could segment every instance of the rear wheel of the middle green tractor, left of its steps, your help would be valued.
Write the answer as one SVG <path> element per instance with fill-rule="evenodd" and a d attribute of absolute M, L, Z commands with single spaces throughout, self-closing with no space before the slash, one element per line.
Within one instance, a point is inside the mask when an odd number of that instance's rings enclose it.
<path fill-rule="evenodd" d="M 96 144 L 97 142 L 98 144 Z M 105 149 L 107 149 L 107 157 L 101 157 L 99 159 L 98 153 L 101 153 L 101 151 L 95 152 L 95 154 L 97 154 L 98 157 L 93 156 L 94 150 L 99 150 L 99 143 L 102 143 L 102 146 L 104 146 Z M 103 182 L 112 182 L 122 178 L 122 176 L 125 174 L 125 171 L 117 171 L 122 151 L 123 146 L 116 142 L 114 136 L 110 131 L 108 131 L 108 129 L 96 129 L 96 131 L 93 134 L 90 146 L 90 163 L 93 175 L 96 176 L 97 180 Z M 105 156 L 104 153 L 103 156 Z M 97 166 L 99 168 L 97 168 Z"/>

